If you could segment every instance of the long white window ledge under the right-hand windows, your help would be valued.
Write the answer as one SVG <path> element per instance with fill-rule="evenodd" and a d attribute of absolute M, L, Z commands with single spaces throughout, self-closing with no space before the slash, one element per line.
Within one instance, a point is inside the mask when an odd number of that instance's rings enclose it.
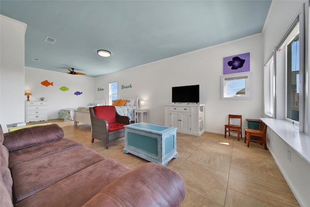
<path fill-rule="evenodd" d="M 285 143 L 310 164 L 310 136 L 299 131 L 299 127 L 292 123 L 272 118 L 261 118 L 261 120 L 273 130 Z"/>

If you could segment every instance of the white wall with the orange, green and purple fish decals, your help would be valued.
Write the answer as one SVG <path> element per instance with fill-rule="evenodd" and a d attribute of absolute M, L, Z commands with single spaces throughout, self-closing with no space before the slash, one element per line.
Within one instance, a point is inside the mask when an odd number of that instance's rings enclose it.
<path fill-rule="evenodd" d="M 53 82 L 53 86 L 42 85 L 41 82 L 44 80 Z M 61 91 L 62 86 L 66 86 L 69 90 Z M 48 119 L 57 119 L 58 111 L 61 109 L 87 106 L 93 102 L 96 92 L 94 78 L 31 67 L 25 67 L 25 90 L 31 91 L 31 101 L 45 97 Z M 77 91 L 82 92 L 82 95 L 74 95 Z"/>

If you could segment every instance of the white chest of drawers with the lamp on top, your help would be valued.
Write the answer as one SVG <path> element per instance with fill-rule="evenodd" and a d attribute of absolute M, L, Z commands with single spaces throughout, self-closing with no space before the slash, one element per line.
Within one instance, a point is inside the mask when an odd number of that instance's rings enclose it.
<path fill-rule="evenodd" d="M 47 121 L 46 101 L 26 101 L 25 107 L 26 122 Z"/>

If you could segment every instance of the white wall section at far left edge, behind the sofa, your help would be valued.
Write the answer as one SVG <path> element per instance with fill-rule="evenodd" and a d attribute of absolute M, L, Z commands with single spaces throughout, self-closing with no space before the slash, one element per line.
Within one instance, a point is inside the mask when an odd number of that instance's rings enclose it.
<path fill-rule="evenodd" d="M 27 25 L 6 16 L 0 18 L 0 124 L 25 121 L 24 65 Z"/>

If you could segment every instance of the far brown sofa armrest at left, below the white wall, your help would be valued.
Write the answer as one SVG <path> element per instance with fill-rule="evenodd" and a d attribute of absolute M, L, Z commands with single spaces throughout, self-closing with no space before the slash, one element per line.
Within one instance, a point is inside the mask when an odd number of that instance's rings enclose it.
<path fill-rule="evenodd" d="M 63 138 L 63 135 L 62 128 L 57 124 L 22 128 L 5 133 L 3 145 L 12 152 L 26 147 L 60 140 Z"/>

